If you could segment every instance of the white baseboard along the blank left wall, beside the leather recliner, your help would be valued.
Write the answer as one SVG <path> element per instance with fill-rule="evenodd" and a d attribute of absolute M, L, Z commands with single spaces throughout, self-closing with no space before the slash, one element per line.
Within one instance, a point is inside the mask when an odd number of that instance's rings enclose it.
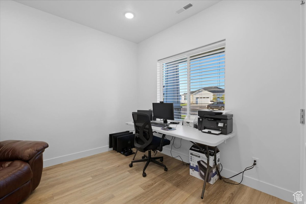
<path fill-rule="evenodd" d="M 61 163 L 67 162 L 67 161 L 73 161 L 73 160 L 76 160 L 76 159 L 80 159 L 80 158 L 88 157 L 88 156 L 91 156 L 91 155 L 99 154 L 99 153 L 102 153 L 102 152 L 106 152 L 108 150 L 109 150 L 108 146 L 104 146 L 104 147 L 98 147 L 98 148 L 91 149 L 91 150 L 76 152 L 76 153 L 73 153 L 73 154 L 68 154 L 68 155 L 64 155 L 64 156 L 60 156 L 60 157 L 56 157 L 56 158 L 52 158 L 52 159 L 46 159 L 46 160 L 43 161 L 43 168 L 48 167 L 48 166 L 61 164 Z"/>

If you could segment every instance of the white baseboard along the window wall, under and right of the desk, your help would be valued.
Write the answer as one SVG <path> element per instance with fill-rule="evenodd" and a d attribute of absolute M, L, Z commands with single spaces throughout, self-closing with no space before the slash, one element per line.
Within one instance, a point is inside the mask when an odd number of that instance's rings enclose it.
<path fill-rule="evenodd" d="M 171 157 L 170 148 L 168 149 L 168 148 L 163 147 L 162 153 Z M 179 153 L 179 152 L 177 152 L 173 149 L 172 149 L 172 155 L 174 157 L 180 155 L 184 162 L 189 163 L 189 155 L 181 154 L 181 153 Z M 177 157 L 176 159 L 181 160 L 179 157 Z M 230 176 L 233 176 L 237 173 L 238 172 L 233 172 L 233 171 L 230 171 L 228 169 L 223 169 L 222 172 L 221 172 L 221 175 L 223 177 L 230 177 Z M 241 181 L 241 176 L 234 177 L 231 180 L 234 180 L 234 181 L 239 183 Z M 289 191 L 287 189 L 283 189 L 281 187 L 277 187 L 277 186 L 274 186 L 272 184 L 268 184 L 266 182 L 259 181 L 259 180 L 256 180 L 254 178 L 251 178 L 251 177 L 245 176 L 245 175 L 243 176 L 242 184 L 246 185 L 248 187 L 254 188 L 258 191 L 262 191 L 264 193 L 267 193 L 269 195 L 273 195 L 273 196 L 275 196 L 277 198 L 280 198 L 282 200 L 285 200 L 287 202 L 291 202 L 291 203 L 294 202 L 294 200 L 293 200 L 293 193 L 294 192 Z"/>

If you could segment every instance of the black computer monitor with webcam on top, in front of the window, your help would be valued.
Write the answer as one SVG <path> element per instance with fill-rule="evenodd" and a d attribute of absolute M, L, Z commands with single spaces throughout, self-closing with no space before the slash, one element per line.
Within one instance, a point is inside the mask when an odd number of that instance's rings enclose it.
<path fill-rule="evenodd" d="M 164 123 L 167 120 L 174 120 L 173 103 L 152 103 L 153 117 L 163 119 Z"/>

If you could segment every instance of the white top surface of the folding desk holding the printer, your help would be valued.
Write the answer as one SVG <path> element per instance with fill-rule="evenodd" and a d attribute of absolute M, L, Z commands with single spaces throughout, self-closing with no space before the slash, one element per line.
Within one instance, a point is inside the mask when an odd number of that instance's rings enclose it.
<path fill-rule="evenodd" d="M 134 127 L 133 122 L 126 122 L 125 124 Z M 201 143 L 201 144 L 205 144 L 205 145 L 213 146 L 213 147 L 216 147 L 217 145 L 223 143 L 226 139 L 231 138 L 236 135 L 235 132 L 231 132 L 230 134 L 227 134 L 227 135 L 221 135 L 221 134 L 212 135 L 212 134 L 204 133 L 196 128 L 185 127 L 181 124 L 177 124 L 177 125 L 169 124 L 169 125 L 170 127 L 176 128 L 176 130 L 168 130 L 168 131 L 162 130 L 160 127 L 156 127 L 156 126 L 152 126 L 152 130 L 162 133 L 162 134 L 182 138 L 185 140 L 189 140 L 192 142 Z"/>

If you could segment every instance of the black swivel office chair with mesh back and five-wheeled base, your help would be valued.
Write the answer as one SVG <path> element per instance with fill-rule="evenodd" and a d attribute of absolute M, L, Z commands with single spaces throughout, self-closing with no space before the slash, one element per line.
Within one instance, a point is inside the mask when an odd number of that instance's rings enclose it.
<path fill-rule="evenodd" d="M 142 159 L 132 161 L 129 164 L 129 167 L 133 166 L 133 163 L 146 161 L 146 165 L 144 166 L 144 170 L 142 172 L 142 176 L 146 177 L 147 174 L 144 172 L 149 165 L 150 162 L 158 164 L 164 167 L 164 170 L 167 171 L 166 165 L 156 161 L 159 159 L 163 161 L 163 157 L 151 157 L 151 150 L 162 151 L 162 147 L 170 144 L 169 139 L 165 139 L 165 134 L 162 135 L 162 138 L 156 137 L 153 135 L 151 121 L 149 116 L 146 113 L 132 113 L 134 127 L 135 127 L 135 143 L 134 146 L 138 151 L 146 152 L 149 150 L 148 156 L 144 155 Z"/>

